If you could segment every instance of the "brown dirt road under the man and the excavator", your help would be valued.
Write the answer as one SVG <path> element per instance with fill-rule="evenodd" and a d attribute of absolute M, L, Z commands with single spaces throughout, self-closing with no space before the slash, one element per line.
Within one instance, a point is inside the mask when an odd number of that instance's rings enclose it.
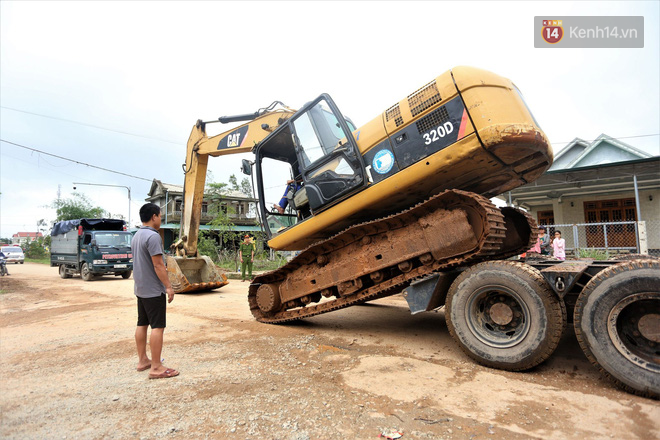
<path fill-rule="evenodd" d="M 444 314 L 401 297 L 299 322 L 255 322 L 247 283 L 177 295 L 163 357 L 135 371 L 133 280 L 0 279 L 2 438 L 660 438 L 660 404 L 601 379 L 567 331 L 526 373 L 473 363 Z"/>

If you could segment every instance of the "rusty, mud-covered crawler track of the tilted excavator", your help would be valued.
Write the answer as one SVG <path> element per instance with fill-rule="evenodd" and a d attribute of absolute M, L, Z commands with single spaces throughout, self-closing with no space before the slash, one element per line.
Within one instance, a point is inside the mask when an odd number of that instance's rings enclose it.
<path fill-rule="evenodd" d="M 443 237 L 443 230 L 450 232 Z M 407 247 L 408 239 L 402 237 L 411 232 L 418 244 L 438 242 L 435 251 Z M 414 238 L 410 241 L 414 248 Z M 478 194 L 448 190 L 310 246 L 281 268 L 257 276 L 248 302 L 260 322 L 295 321 L 394 295 L 434 272 L 517 255 L 535 241 L 536 223 L 527 213 L 500 211 Z M 389 252 L 380 254 L 380 249 Z M 377 261 L 368 259 L 374 256 Z M 378 267 L 383 260 L 394 264 Z M 322 296 L 336 298 L 319 302 Z"/>

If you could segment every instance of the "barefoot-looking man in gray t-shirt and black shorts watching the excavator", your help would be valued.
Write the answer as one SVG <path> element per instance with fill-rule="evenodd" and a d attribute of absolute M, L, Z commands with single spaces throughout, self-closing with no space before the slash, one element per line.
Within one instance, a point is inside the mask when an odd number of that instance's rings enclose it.
<path fill-rule="evenodd" d="M 178 376 L 179 372 L 165 367 L 161 362 L 163 332 L 167 302 L 174 299 L 174 290 L 167 277 L 163 242 L 158 234 L 161 217 L 160 207 L 147 203 L 140 208 L 142 227 L 131 242 L 133 251 L 133 279 L 137 296 L 138 321 L 135 344 L 138 352 L 138 371 L 149 370 L 149 379 Z M 147 356 L 147 329 L 151 326 L 151 360 Z"/>

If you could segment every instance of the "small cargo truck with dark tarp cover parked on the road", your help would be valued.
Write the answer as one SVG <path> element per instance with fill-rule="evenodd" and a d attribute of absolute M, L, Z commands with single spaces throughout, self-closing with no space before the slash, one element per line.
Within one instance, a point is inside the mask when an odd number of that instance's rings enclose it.
<path fill-rule="evenodd" d="M 80 274 L 83 281 L 102 275 L 128 279 L 133 272 L 133 236 L 124 220 L 65 220 L 55 223 L 50 235 L 50 265 L 59 267 L 62 278 Z"/>

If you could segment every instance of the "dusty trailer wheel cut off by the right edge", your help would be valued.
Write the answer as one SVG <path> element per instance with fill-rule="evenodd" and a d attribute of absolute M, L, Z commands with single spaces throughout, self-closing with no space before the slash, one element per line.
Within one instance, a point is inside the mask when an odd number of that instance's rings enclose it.
<path fill-rule="evenodd" d="M 660 399 L 660 262 L 599 272 L 575 304 L 575 334 L 589 361 L 620 388 Z"/>

